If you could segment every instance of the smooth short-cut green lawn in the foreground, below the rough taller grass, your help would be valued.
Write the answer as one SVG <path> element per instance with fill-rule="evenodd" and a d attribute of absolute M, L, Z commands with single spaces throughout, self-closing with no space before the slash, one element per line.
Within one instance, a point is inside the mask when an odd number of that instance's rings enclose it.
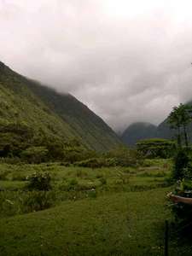
<path fill-rule="evenodd" d="M 118 193 L 3 218 L 1 255 L 160 255 L 166 192 Z"/>

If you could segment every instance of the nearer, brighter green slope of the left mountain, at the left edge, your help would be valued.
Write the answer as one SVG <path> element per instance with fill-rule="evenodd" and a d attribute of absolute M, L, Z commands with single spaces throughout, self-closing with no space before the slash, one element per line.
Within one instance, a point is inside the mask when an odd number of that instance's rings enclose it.
<path fill-rule="evenodd" d="M 20 88 L 19 93 L 16 93 L 0 84 L 1 124 L 18 122 L 29 125 L 37 134 L 44 131 L 48 136 L 53 135 L 53 132 L 55 136 L 63 138 L 75 136 L 67 123 L 29 93 L 25 88 Z"/>

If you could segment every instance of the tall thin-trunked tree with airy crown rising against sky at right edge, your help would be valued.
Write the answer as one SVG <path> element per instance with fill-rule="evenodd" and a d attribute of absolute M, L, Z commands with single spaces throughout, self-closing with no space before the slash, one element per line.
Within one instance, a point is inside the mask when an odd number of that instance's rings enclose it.
<path fill-rule="evenodd" d="M 184 142 L 185 146 L 188 147 L 188 135 L 187 135 L 187 126 L 192 121 L 191 116 L 192 108 L 189 105 L 183 105 L 182 103 L 179 104 L 177 107 L 172 109 L 168 117 L 168 123 L 171 129 L 177 130 L 177 144 L 178 147 L 181 148 L 182 146 L 182 128 L 184 134 Z"/>

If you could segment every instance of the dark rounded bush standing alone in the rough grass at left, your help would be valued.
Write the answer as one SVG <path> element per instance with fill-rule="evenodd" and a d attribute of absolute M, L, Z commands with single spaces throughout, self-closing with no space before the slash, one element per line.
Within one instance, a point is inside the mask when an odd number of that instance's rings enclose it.
<path fill-rule="evenodd" d="M 49 172 L 34 172 L 32 176 L 27 177 L 27 189 L 30 190 L 45 190 L 51 189 L 51 177 Z"/>

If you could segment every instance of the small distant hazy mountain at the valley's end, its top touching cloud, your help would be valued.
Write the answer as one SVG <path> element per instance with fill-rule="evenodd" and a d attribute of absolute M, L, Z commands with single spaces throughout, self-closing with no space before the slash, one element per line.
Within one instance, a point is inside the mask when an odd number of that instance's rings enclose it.
<path fill-rule="evenodd" d="M 122 141 L 133 146 L 137 141 L 152 138 L 156 135 L 156 126 L 150 123 L 137 122 L 131 124 L 122 134 Z"/>

